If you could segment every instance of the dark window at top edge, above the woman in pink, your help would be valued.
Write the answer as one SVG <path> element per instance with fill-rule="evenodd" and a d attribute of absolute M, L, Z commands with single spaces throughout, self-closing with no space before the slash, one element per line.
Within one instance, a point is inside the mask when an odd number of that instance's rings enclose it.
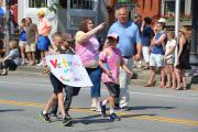
<path fill-rule="evenodd" d="M 94 10 L 95 0 L 70 0 L 70 9 Z"/>

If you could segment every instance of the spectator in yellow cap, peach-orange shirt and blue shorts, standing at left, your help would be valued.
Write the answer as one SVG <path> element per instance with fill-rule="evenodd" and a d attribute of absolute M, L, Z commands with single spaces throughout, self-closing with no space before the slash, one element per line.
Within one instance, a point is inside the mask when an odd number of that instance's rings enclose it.
<path fill-rule="evenodd" d="M 48 34 L 51 32 L 51 23 L 45 18 L 45 12 L 40 10 L 37 12 L 38 18 L 38 37 L 37 37 L 37 50 L 41 52 L 41 61 L 45 57 L 45 53 L 48 51 L 48 46 L 51 44 Z"/>

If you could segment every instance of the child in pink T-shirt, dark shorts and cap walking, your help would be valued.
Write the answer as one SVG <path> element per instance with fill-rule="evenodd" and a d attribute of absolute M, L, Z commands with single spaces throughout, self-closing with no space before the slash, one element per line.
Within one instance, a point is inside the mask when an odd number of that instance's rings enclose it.
<path fill-rule="evenodd" d="M 109 34 L 107 37 L 108 47 L 105 48 L 99 55 L 99 65 L 103 69 L 101 79 L 106 85 L 109 97 L 100 102 L 101 113 L 106 117 L 106 105 L 110 105 L 110 120 L 120 120 L 120 118 L 114 113 L 114 99 L 120 95 L 119 85 L 119 73 L 120 67 L 122 67 L 130 76 L 132 72 L 124 65 L 121 51 L 117 48 L 119 42 L 118 34 Z"/>

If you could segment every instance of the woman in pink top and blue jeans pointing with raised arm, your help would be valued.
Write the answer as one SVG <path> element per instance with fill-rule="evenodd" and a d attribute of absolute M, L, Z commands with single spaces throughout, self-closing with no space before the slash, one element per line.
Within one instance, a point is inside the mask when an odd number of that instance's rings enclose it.
<path fill-rule="evenodd" d="M 103 28 L 105 23 L 94 28 L 92 20 L 85 18 L 80 22 L 79 31 L 76 33 L 76 54 L 81 58 L 81 62 L 94 84 L 90 88 L 90 110 L 99 109 L 101 68 L 98 65 L 100 44 L 96 37 L 96 33 Z"/>

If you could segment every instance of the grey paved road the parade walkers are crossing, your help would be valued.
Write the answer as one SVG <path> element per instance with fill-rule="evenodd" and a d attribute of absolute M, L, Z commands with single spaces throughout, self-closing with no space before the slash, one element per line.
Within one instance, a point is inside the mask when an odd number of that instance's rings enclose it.
<path fill-rule="evenodd" d="M 82 88 L 72 106 L 74 125 L 64 128 L 62 121 L 38 120 L 52 94 L 46 77 L 0 77 L 0 132 L 198 132 L 198 91 L 130 87 L 131 110 L 118 111 L 121 121 L 89 111 L 89 88 Z"/>

